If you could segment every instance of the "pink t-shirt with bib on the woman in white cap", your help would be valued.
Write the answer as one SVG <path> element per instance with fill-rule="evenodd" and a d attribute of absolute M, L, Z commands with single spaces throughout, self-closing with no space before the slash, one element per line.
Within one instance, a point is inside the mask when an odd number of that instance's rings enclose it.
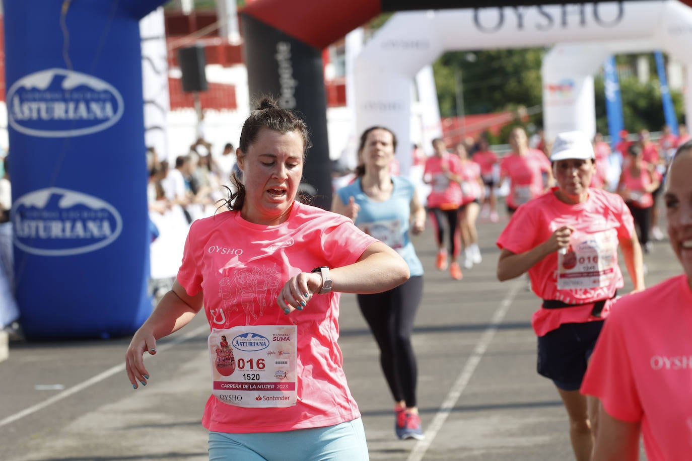
<path fill-rule="evenodd" d="M 531 290 L 540 299 L 581 304 L 558 309 L 540 308 L 534 312 L 531 324 L 538 336 L 563 323 L 608 317 L 612 302 L 605 303 L 601 317 L 591 315 L 593 303 L 610 299 L 615 290 L 623 286 L 617 263 L 617 243 L 632 238 L 635 232 L 632 214 L 620 196 L 589 189 L 589 198 L 584 203 L 567 205 L 555 196 L 556 189 L 553 187 L 547 194 L 520 207 L 497 241 L 500 249 L 520 254 L 547 241 L 558 227 L 571 225 L 576 229 L 570 252 L 566 255 L 553 252 L 529 269 Z"/>

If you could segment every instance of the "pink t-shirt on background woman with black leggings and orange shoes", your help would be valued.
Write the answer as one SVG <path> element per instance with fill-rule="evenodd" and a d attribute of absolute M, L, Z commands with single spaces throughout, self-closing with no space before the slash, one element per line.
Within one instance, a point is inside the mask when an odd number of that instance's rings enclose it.
<path fill-rule="evenodd" d="M 426 160 L 424 176 L 431 181 L 428 207 L 453 209 L 462 204 L 462 187 L 445 176 L 443 165 L 450 173 L 460 175 L 462 164 L 459 157 L 445 152 L 441 157 L 432 156 Z"/>

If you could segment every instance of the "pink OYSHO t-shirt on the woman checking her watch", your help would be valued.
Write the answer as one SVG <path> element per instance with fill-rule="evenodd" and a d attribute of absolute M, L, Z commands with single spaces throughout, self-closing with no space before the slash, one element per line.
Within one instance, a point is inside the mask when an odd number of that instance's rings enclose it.
<path fill-rule="evenodd" d="M 210 328 L 251 325 L 298 328 L 298 403 L 285 408 L 242 408 L 211 395 L 202 424 L 228 433 L 277 432 L 331 426 L 360 416 L 346 384 L 337 344 L 340 294 L 316 294 L 289 315 L 276 304 L 279 290 L 295 274 L 326 265 L 355 263 L 376 242 L 352 220 L 293 203 L 286 222 L 249 223 L 239 211 L 194 221 L 185 241 L 178 281 L 194 296 L 202 290 Z M 228 289 L 227 289 L 228 288 Z"/>

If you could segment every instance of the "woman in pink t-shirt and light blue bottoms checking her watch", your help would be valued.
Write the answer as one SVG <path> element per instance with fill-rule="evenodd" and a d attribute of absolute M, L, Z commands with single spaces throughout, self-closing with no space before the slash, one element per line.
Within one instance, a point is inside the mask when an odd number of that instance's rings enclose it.
<path fill-rule="evenodd" d="M 309 146 L 303 120 L 260 102 L 240 134 L 244 182 L 228 211 L 192 223 L 172 290 L 127 349 L 129 381 L 145 386 L 144 352 L 203 310 L 210 459 L 368 458 L 336 342 L 340 292 L 390 290 L 409 270 L 352 220 L 295 200 Z"/>

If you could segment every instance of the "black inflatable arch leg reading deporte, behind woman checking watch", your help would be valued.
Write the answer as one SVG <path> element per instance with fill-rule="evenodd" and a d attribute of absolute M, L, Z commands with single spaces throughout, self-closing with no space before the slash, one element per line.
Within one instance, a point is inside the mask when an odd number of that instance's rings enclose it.
<path fill-rule="evenodd" d="M 329 209 L 331 162 L 322 50 L 248 15 L 241 14 L 241 18 L 251 101 L 269 94 L 284 109 L 302 115 L 313 144 L 303 169 L 302 191 L 313 196 L 311 205 Z"/>

